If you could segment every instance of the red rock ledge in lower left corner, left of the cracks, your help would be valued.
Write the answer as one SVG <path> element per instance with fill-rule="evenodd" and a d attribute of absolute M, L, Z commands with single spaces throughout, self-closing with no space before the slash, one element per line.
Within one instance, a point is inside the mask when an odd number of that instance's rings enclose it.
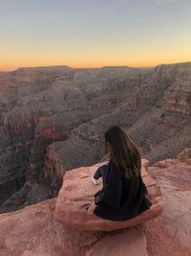
<path fill-rule="evenodd" d="M 84 255 L 103 235 L 78 232 L 53 220 L 54 199 L 0 215 L 1 256 Z"/>

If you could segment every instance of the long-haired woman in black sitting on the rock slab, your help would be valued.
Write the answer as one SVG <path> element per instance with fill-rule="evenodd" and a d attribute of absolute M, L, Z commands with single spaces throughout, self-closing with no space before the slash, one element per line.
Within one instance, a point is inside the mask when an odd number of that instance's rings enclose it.
<path fill-rule="evenodd" d="M 105 131 L 105 151 L 109 162 L 96 170 L 103 177 L 103 188 L 95 195 L 88 215 L 111 221 L 125 221 L 138 216 L 152 205 L 141 177 L 141 154 L 138 146 L 122 128 Z"/>

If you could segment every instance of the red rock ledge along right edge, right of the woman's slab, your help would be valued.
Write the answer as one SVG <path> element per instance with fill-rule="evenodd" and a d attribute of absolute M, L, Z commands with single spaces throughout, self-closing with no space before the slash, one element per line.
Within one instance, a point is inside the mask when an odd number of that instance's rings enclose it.
<path fill-rule="evenodd" d="M 163 211 L 146 225 L 149 255 L 191 255 L 191 166 L 175 161 L 168 167 L 149 167 L 162 194 Z"/>

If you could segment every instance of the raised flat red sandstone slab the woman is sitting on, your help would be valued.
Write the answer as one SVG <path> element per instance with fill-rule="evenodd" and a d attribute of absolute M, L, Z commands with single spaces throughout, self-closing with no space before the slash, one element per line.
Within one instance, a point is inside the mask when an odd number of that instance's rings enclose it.
<path fill-rule="evenodd" d="M 102 186 L 101 184 L 95 186 L 92 183 L 92 176 L 96 168 L 104 163 L 74 169 L 64 175 L 63 185 L 56 199 L 54 214 L 56 220 L 81 230 L 115 230 L 137 225 L 161 214 L 162 201 L 159 187 L 146 172 L 145 167 L 148 166 L 148 161 L 142 160 L 141 175 L 148 189 L 148 198 L 153 202 L 151 208 L 128 221 L 109 221 L 98 218 L 96 215 L 87 215 L 86 207 L 94 200 L 96 191 Z"/>

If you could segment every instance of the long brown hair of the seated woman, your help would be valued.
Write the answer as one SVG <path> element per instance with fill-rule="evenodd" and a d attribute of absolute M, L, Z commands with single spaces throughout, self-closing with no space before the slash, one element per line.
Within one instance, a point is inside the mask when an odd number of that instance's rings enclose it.
<path fill-rule="evenodd" d="M 130 136 L 117 126 L 112 126 L 104 132 L 105 151 L 109 152 L 112 160 L 122 173 L 130 178 L 140 175 L 141 150 Z M 109 142 L 109 147 L 108 147 Z"/>

